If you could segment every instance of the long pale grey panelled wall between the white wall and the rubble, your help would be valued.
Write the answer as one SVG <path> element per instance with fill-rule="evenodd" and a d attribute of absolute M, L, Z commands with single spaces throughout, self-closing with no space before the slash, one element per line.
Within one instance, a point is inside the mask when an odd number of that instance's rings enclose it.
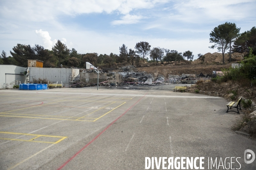
<path fill-rule="evenodd" d="M 29 82 L 33 83 L 32 77 L 35 79 L 47 79 L 49 82 L 58 82 L 64 86 L 69 85 L 70 74 L 72 77 L 79 75 L 79 69 L 73 68 L 36 68 L 29 67 Z"/>

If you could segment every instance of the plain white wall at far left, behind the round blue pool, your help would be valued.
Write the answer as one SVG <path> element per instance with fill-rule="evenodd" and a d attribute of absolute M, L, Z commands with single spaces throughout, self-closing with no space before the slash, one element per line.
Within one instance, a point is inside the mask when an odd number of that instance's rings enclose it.
<path fill-rule="evenodd" d="M 19 67 L 16 65 L 0 65 L 0 88 L 5 88 L 5 82 L 6 84 L 11 83 L 15 81 L 16 79 L 20 81 L 21 83 L 25 82 L 26 76 L 24 75 L 9 75 L 9 74 L 23 74 L 23 72 L 26 71 L 25 67 Z M 7 73 L 7 74 L 6 74 Z M 10 85 L 12 88 L 13 85 Z"/>

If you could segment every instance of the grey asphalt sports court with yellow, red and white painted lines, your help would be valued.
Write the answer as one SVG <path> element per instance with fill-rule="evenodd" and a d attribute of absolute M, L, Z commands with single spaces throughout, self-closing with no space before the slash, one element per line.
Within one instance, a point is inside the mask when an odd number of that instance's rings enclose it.
<path fill-rule="evenodd" d="M 145 157 L 204 157 L 205 169 L 235 157 L 232 168 L 255 170 L 244 150 L 256 141 L 231 130 L 227 101 L 174 86 L 1 90 L 0 170 L 143 170 Z"/>

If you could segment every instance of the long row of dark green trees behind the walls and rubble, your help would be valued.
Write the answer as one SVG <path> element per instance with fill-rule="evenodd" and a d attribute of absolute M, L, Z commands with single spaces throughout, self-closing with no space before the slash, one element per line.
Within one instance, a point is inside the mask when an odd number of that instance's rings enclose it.
<path fill-rule="evenodd" d="M 12 51 L 12 56 L 7 57 L 6 52 L 3 51 L 0 58 L 0 64 L 18 65 L 21 67 L 27 67 L 28 59 L 37 59 L 44 62 L 44 67 L 60 67 L 61 65 L 84 68 L 85 62 L 90 62 L 96 67 L 99 65 L 108 65 L 111 67 L 114 63 L 140 65 L 140 62 L 180 62 L 183 59 L 192 61 L 194 55 L 191 51 L 179 53 L 176 50 L 169 50 L 160 47 L 151 49 L 151 45 L 148 42 L 136 43 L 134 49 L 128 49 L 123 44 L 119 47 L 119 54 L 97 54 L 87 53 L 79 54 L 75 48 L 68 49 L 67 46 L 60 40 L 52 47 L 52 50 L 45 49 L 42 45 L 30 45 L 17 44 Z"/>

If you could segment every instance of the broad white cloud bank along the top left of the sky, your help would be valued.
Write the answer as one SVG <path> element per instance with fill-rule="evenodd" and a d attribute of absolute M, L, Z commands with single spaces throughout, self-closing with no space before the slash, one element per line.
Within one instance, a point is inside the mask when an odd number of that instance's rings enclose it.
<path fill-rule="evenodd" d="M 54 21 L 63 14 L 80 14 L 117 11 L 129 14 L 134 9 L 153 8 L 157 3 L 170 0 L 8 0 L 1 2 L 0 15 L 13 20 L 34 22 Z M 25 10 L 26 9 L 26 10 Z"/>

